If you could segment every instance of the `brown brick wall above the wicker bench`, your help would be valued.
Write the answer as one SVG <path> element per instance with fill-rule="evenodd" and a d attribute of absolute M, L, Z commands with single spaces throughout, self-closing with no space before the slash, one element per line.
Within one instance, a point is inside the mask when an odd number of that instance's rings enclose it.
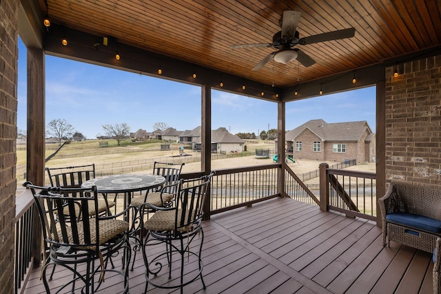
<path fill-rule="evenodd" d="M 386 179 L 441 186 L 441 55 L 386 70 Z"/>

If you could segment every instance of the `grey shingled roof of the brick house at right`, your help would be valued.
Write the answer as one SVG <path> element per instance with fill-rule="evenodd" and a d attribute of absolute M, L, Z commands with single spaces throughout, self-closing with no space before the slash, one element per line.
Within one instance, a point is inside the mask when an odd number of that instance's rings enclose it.
<path fill-rule="evenodd" d="M 285 135 L 285 140 L 294 141 L 298 135 L 309 129 L 322 141 L 358 141 L 367 130 L 372 134 L 371 128 L 366 120 L 351 121 L 347 123 L 326 123 L 325 120 L 309 120 L 307 123 L 296 127 Z M 371 137 L 369 137 L 372 140 Z"/>

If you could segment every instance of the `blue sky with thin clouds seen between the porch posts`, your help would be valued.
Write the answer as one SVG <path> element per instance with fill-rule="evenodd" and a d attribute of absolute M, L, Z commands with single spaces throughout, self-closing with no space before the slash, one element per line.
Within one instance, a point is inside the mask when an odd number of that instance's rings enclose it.
<path fill-rule="evenodd" d="M 19 41 L 17 127 L 26 129 L 26 49 Z M 289 64 L 287 65 L 289 66 Z M 166 123 L 178 131 L 201 125 L 201 87 L 79 61 L 45 56 L 45 123 L 65 119 L 88 139 L 103 125 L 127 123 L 131 132 Z M 285 129 L 311 119 L 327 123 L 367 120 L 375 132 L 376 89 L 367 87 L 286 103 Z M 269 126 L 268 126 L 269 125 Z M 212 129 L 232 134 L 277 129 L 277 103 L 212 91 Z"/>

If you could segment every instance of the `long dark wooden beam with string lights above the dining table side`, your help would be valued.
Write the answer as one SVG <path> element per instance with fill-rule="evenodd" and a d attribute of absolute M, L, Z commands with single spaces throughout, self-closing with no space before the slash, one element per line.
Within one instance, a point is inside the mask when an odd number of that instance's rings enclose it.
<path fill-rule="evenodd" d="M 61 44 L 64 36 L 68 39 L 67 46 Z M 277 94 L 281 92 L 278 87 L 262 85 L 247 78 L 226 74 L 208 67 L 119 43 L 112 36 L 106 36 L 107 45 L 103 45 L 103 38 L 104 36 L 87 34 L 54 24 L 50 26 L 50 30 L 44 38 L 43 47 L 46 54 L 61 58 L 170 79 L 172 81 L 194 85 L 208 85 L 216 90 L 252 96 L 267 101 L 278 101 Z M 116 51 L 121 56 L 120 60 L 115 59 Z M 162 74 L 158 74 L 160 68 Z M 192 76 L 194 73 L 196 73 L 196 78 Z M 223 82 L 223 87 L 220 87 L 220 81 Z M 245 90 L 242 89 L 244 84 L 246 85 Z M 262 90 L 265 92 L 264 97 L 260 95 Z"/>

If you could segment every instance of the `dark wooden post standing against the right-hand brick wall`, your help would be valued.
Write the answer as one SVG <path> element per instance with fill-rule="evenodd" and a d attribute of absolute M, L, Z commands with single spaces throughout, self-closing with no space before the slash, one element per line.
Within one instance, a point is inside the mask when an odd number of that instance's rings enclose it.
<path fill-rule="evenodd" d="M 376 87 L 376 186 L 377 225 L 382 225 L 378 198 L 386 193 L 386 83 L 380 81 Z"/>

